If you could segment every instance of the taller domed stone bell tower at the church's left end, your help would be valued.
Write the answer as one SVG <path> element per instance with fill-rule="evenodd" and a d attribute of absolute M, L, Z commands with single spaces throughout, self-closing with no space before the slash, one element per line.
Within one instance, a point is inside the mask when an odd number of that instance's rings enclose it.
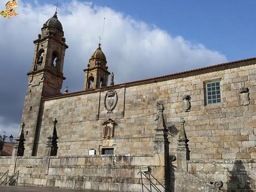
<path fill-rule="evenodd" d="M 28 75 L 28 90 L 22 113 L 24 122 L 24 156 L 36 155 L 40 130 L 41 97 L 60 94 L 63 76 L 63 62 L 68 46 L 65 43 L 62 24 L 57 12 L 41 28 L 35 43 L 33 62 Z"/>

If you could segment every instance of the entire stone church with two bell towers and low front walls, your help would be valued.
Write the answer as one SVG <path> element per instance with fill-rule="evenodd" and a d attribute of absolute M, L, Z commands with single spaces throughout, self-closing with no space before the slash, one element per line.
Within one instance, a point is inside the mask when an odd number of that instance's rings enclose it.
<path fill-rule="evenodd" d="M 256 58 L 114 85 L 99 45 L 81 69 L 83 90 L 61 93 L 68 46 L 57 12 L 41 30 L 0 176 L 105 191 L 256 191 Z"/>

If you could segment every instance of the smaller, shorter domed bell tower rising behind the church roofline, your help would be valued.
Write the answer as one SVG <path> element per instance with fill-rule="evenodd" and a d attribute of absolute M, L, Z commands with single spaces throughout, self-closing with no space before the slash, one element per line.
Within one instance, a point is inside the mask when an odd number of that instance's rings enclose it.
<path fill-rule="evenodd" d="M 89 90 L 94 88 L 100 88 L 107 86 L 107 79 L 110 72 L 107 71 L 106 56 L 101 50 L 101 45 L 92 54 L 87 68 L 85 68 L 85 83 L 83 90 Z"/>

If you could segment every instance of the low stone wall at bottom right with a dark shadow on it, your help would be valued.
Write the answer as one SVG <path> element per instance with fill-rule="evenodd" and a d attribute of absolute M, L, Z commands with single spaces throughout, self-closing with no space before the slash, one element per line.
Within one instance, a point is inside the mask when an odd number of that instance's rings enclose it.
<path fill-rule="evenodd" d="M 194 160 L 188 172 L 208 182 L 223 181 L 223 191 L 256 191 L 255 160 Z"/>

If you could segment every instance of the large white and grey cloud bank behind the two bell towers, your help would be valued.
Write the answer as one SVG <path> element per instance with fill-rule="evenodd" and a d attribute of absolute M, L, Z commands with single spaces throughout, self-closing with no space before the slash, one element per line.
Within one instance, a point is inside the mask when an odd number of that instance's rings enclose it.
<path fill-rule="evenodd" d="M 0 18 L 0 86 L 9 91 L 6 94 L 14 94 L 15 91 L 24 94 L 27 88 L 26 73 L 32 63 L 32 41 L 36 40 L 43 23 L 55 11 L 50 4 L 39 6 L 38 1 L 35 2 L 32 5 L 19 0 L 17 17 L 10 20 Z M 4 6 L 3 1 L 0 6 Z M 65 56 L 64 74 L 67 80 L 63 84 L 70 91 L 82 90 L 83 68 L 97 48 L 104 17 L 106 23 L 102 50 L 107 57 L 109 70 L 115 73 L 115 83 L 227 61 L 223 54 L 211 51 L 204 45 L 193 44 L 181 36 L 173 37 L 163 29 L 137 21 L 111 8 L 71 1 L 62 4 L 58 13 L 66 43 L 70 47 Z M 9 88 L 6 79 L 11 79 L 9 83 L 12 88 Z M 22 96 L 17 95 L 17 99 Z M 12 106 L 11 100 L 4 102 L 9 102 L 13 110 L 23 105 L 23 101 L 19 106 Z M 0 115 L 4 115 L 1 109 Z M 18 121 L 20 117 L 14 119 Z"/>

